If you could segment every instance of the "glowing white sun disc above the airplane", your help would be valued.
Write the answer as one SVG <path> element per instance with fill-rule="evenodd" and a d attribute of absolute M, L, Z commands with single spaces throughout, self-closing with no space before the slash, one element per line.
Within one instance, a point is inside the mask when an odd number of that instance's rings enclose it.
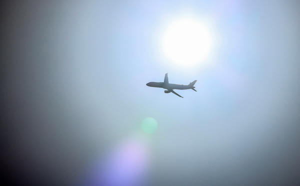
<path fill-rule="evenodd" d="M 192 66 L 207 58 L 211 36 L 204 24 L 192 19 L 180 19 L 168 26 L 162 46 L 170 60 Z"/>

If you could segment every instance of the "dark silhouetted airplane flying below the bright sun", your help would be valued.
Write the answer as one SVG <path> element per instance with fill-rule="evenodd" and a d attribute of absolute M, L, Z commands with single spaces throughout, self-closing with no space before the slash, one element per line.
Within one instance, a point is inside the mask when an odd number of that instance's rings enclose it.
<path fill-rule="evenodd" d="M 164 88 L 164 89 L 167 89 L 167 90 L 164 90 L 164 93 L 172 92 L 175 95 L 178 95 L 179 97 L 182 97 L 181 95 L 176 93 L 173 89 L 179 89 L 179 90 L 192 89 L 194 91 L 197 91 L 197 90 L 194 89 L 194 86 L 193 86 L 196 83 L 196 81 L 197 80 L 194 80 L 194 81 L 190 82 L 188 85 L 171 84 L 171 83 L 168 83 L 168 77 L 167 77 L 167 73 L 166 73 L 164 75 L 164 81 L 163 82 L 148 82 L 146 85 L 151 86 L 151 87 Z"/>

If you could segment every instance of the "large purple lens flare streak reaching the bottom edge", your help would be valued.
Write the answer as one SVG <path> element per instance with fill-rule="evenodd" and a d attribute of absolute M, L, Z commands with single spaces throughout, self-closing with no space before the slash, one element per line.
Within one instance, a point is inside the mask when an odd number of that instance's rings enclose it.
<path fill-rule="evenodd" d="M 148 145 L 140 139 L 125 140 L 106 158 L 93 162 L 80 185 L 144 185 L 148 151 Z"/>

